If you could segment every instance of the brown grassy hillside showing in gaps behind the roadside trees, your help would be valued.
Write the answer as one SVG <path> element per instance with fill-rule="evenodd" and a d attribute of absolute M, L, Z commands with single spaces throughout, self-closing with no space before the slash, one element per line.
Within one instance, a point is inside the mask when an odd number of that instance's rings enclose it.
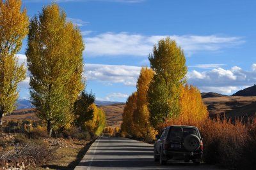
<path fill-rule="evenodd" d="M 210 115 L 225 113 L 228 117 L 252 117 L 256 113 L 256 96 L 222 96 L 203 99 Z M 100 106 L 106 113 L 107 127 L 120 127 L 125 104 L 111 104 Z M 39 120 L 35 110 L 15 110 L 3 120 Z"/>

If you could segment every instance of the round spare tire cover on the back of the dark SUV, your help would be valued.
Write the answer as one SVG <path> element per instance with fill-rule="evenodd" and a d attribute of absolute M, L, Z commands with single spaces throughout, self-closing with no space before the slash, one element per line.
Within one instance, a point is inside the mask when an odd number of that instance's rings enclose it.
<path fill-rule="evenodd" d="M 198 150 L 200 147 L 200 139 L 195 134 L 190 134 L 184 139 L 184 148 L 189 152 Z"/>

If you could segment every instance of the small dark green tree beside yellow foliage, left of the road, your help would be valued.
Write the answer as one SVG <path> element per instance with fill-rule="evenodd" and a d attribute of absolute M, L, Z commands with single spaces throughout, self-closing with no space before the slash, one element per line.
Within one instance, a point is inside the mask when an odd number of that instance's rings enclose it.
<path fill-rule="evenodd" d="M 74 103 L 74 113 L 76 115 L 75 123 L 77 126 L 82 128 L 84 122 L 92 120 L 93 118 L 93 109 L 90 107 L 95 101 L 95 95 L 88 94 L 87 92 L 83 91 L 77 101 Z"/>

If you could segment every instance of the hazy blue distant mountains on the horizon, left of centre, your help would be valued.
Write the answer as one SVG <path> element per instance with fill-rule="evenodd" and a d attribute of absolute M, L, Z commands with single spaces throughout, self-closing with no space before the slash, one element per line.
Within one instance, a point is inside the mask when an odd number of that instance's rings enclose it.
<path fill-rule="evenodd" d="M 125 103 L 118 102 L 118 101 L 95 101 L 95 104 L 98 106 L 106 106 L 111 104 L 125 104 Z M 28 99 L 19 99 L 16 103 L 16 106 L 17 106 L 17 110 L 32 108 L 31 103 Z"/>

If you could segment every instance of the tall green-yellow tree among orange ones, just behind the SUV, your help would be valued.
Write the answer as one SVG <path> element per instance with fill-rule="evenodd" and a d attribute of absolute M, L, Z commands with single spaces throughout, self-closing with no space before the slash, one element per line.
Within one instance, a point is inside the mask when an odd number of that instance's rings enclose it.
<path fill-rule="evenodd" d="M 180 113 L 180 85 L 186 82 L 186 59 L 183 50 L 169 37 L 154 45 L 148 57 L 154 71 L 148 89 L 150 123 L 156 127 L 166 118 Z"/>

